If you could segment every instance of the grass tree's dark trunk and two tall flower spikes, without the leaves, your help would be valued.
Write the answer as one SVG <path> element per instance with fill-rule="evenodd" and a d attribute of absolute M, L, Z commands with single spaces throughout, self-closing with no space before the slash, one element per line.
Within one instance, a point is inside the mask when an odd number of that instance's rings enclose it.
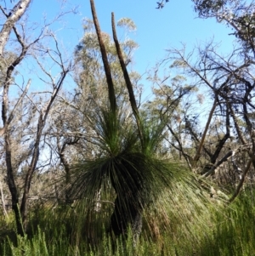
<path fill-rule="evenodd" d="M 116 95 L 115 95 L 113 80 L 111 77 L 111 67 L 107 59 L 105 44 L 102 39 L 102 35 L 99 27 L 99 21 L 97 18 L 95 7 L 94 7 L 94 0 L 90 0 L 90 4 L 91 4 L 91 10 L 92 10 L 93 19 L 94 19 L 94 26 L 95 26 L 98 40 L 99 40 L 99 47 L 102 54 L 102 60 L 105 67 L 105 77 L 108 85 L 111 112 L 113 114 L 116 114 L 116 109 L 117 109 Z M 141 145 L 143 145 L 144 138 L 143 138 L 142 128 L 141 128 L 140 119 L 139 119 L 139 111 L 138 111 L 134 94 L 133 94 L 133 86 L 132 86 L 132 83 L 130 82 L 130 78 L 128 76 L 126 66 L 124 65 L 122 51 L 116 38 L 113 14 L 112 14 L 112 29 L 114 34 L 114 40 L 116 43 L 118 58 L 122 66 L 122 72 L 125 78 L 125 82 L 127 85 L 127 90 L 130 98 L 130 103 L 133 109 L 133 115 L 136 119 L 138 130 L 139 130 Z M 136 170 L 133 170 L 132 167 L 129 167 L 129 168 L 131 168 L 131 172 L 129 173 L 130 175 L 127 175 L 126 179 L 122 180 L 120 183 L 117 184 L 116 180 L 113 179 L 113 177 L 111 177 L 111 184 L 113 185 L 116 191 L 115 208 L 114 208 L 114 212 L 111 215 L 111 231 L 115 234 L 115 236 L 126 234 L 127 228 L 129 225 L 131 226 L 133 233 L 139 235 L 142 227 L 143 211 L 142 211 L 142 205 L 141 205 L 141 200 L 139 196 L 141 195 L 141 187 L 138 186 L 134 190 L 132 187 L 128 188 L 128 184 L 133 184 L 134 180 L 136 180 L 136 177 L 133 177 L 133 174 L 136 173 Z M 124 184 L 127 186 L 122 186 Z"/>

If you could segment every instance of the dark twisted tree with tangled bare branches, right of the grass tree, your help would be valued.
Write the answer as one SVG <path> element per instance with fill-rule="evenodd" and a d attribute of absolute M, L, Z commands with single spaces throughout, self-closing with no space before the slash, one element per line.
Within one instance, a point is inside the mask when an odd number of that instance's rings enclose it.
<path fill-rule="evenodd" d="M 185 76 L 190 76 L 198 88 L 204 92 L 207 91 L 207 102 L 212 104 L 201 139 L 192 126 L 187 126 L 193 138 L 198 138 L 200 141 L 200 146 L 192 161 L 195 163 L 199 160 L 203 149 L 211 163 L 208 174 L 214 174 L 215 170 L 226 161 L 234 161 L 234 168 L 236 165 L 235 153 L 243 152 L 241 149 L 246 151 L 245 149 L 249 147 L 247 164 L 245 165 L 243 162 L 240 167 L 242 169 L 240 184 L 242 184 L 247 171 L 253 169 L 251 165 L 254 167 L 255 147 L 252 121 L 255 85 L 254 61 L 243 47 L 236 47 L 232 53 L 224 56 L 218 54 L 213 43 L 208 44 L 205 48 L 197 48 L 196 54 L 199 57 L 193 58 L 192 54 L 185 54 L 184 49 L 173 48 L 169 50 L 169 55 L 164 60 L 165 63 L 171 63 L 171 66 L 178 67 Z M 224 129 L 218 136 L 218 143 L 214 145 L 213 150 L 211 148 L 208 151 L 208 128 L 213 117 L 220 120 L 220 127 Z M 217 133 L 216 128 L 214 134 Z M 233 139 L 236 139 L 238 144 L 232 143 Z M 240 186 L 238 188 L 239 191 Z"/>

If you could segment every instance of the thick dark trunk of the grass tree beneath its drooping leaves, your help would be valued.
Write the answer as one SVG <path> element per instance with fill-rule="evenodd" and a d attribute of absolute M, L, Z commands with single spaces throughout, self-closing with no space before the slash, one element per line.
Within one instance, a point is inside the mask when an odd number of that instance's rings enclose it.
<path fill-rule="evenodd" d="M 142 230 L 144 209 L 143 176 L 138 174 L 137 167 L 133 166 L 135 162 L 137 159 L 133 157 L 128 157 L 121 162 L 124 167 L 119 170 L 122 178 L 116 179 L 114 175 L 111 175 L 111 184 L 117 194 L 114 212 L 111 215 L 111 231 L 115 236 L 125 235 L 130 227 L 133 242 L 136 242 Z"/>

